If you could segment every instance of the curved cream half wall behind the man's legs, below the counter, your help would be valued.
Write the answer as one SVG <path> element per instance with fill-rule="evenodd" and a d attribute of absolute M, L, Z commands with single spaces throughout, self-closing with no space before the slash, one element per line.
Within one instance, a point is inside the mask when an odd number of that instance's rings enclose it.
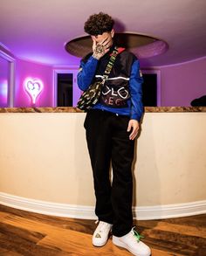
<path fill-rule="evenodd" d="M 94 205 L 81 113 L 0 114 L 0 192 Z M 134 205 L 206 199 L 206 113 L 146 113 L 134 164 Z"/>

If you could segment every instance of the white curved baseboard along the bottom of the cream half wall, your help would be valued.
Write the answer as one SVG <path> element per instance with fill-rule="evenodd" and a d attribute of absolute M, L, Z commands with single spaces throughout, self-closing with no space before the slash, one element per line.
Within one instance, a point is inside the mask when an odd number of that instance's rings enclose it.
<path fill-rule="evenodd" d="M 93 206 L 45 202 L 25 197 L 17 197 L 3 192 L 0 192 L 0 204 L 24 211 L 32 211 L 58 217 L 97 218 L 94 214 Z M 133 212 L 134 218 L 139 220 L 186 217 L 206 213 L 206 200 L 184 204 L 139 206 L 134 207 Z"/>

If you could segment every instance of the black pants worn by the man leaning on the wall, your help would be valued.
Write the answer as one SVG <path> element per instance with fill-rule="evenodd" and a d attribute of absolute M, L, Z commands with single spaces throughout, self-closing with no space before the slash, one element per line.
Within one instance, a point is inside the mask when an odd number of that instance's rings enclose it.
<path fill-rule="evenodd" d="M 129 117 L 102 110 L 86 114 L 86 141 L 93 168 L 95 214 L 113 224 L 113 235 L 121 237 L 133 225 L 132 198 L 134 141 L 127 132 Z M 113 182 L 110 181 L 112 160 Z"/>

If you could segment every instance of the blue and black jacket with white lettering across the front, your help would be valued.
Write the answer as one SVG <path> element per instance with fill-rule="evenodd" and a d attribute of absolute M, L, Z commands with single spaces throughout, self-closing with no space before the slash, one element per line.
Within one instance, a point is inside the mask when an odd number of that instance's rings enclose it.
<path fill-rule="evenodd" d="M 100 60 L 94 59 L 93 53 L 81 60 L 78 86 L 82 91 L 86 91 L 94 80 L 103 79 L 112 51 L 113 48 Z M 100 100 L 93 109 L 127 115 L 130 119 L 141 121 L 144 111 L 141 99 L 142 82 L 139 60 L 131 52 L 121 52 L 117 55 L 109 78 L 104 84 Z"/>

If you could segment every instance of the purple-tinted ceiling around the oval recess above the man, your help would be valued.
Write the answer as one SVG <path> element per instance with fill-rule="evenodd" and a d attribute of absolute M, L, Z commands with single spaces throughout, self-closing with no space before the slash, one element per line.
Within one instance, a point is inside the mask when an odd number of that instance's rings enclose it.
<path fill-rule="evenodd" d="M 206 0 L 0 0 L 0 43 L 20 59 L 79 65 L 65 43 L 82 36 L 93 13 L 111 15 L 115 31 L 160 38 L 168 51 L 141 59 L 165 66 L 206 56 Z"/>

